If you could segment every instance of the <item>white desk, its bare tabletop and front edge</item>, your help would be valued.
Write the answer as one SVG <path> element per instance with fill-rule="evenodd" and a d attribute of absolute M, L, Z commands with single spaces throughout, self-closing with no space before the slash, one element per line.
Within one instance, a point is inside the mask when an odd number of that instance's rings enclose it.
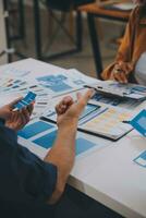
<path fill-rule="evenodd" d="M 62 71 L 28 59 L 13 65 L 34 75 Z M 97 144 L 102 143 L 95 137 Z M 98 147 L 98 146 L 97 146 Z M 76 158 L 69 183 L 124 217 L 146 217 L 146 169 L 133 162 L 146 149 L 146 138 L 132 131 L 122 140 Z"/>

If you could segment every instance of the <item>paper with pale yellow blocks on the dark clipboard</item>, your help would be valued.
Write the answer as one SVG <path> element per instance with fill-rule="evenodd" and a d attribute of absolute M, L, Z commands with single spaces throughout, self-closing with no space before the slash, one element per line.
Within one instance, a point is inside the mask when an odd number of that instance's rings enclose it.
<path fill-rule="evenodd" d="M 132 113 L 130 110 L 118 107 L 100 107 L 97 114 L 89 114 L 80 121 L 78 130 L 94 133 L 102 137 L 119 140 L 132 130 L 130 124 L 123 123 L 129 120 Z"/>

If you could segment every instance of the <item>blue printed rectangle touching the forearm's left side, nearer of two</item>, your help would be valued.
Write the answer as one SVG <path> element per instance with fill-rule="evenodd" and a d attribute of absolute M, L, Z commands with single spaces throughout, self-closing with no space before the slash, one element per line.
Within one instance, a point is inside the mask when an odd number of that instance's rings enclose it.
<path fill-rule="evenodd" d="M 33 143 L 48 149 L 48 148 L 52 147 L 56 137 L 57 137 L 57 131 L 53 131 L 41 137 L 38 137 L 37 140 L 33 141 Z"/>

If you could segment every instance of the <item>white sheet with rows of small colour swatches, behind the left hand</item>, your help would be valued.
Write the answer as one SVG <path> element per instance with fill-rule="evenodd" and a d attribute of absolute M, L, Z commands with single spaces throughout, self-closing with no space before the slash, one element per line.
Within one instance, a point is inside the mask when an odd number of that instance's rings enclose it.
<path fill-rule="evenodd" d="M 13 74 L 9 76 L 9 72 L 11 69 L 11 73 Z M 1 70 L 1 68 L 0 68 Z M 49 105 L 51 95 L 48 90 L 46 90 L 44 87 L 39 86 L 39 84 L 27 74 L 27 76 L 17 76 L 17 74 L 21 72 L 24 73 L 23 70 L 16 70 L 16 68 L 7 68 L 3 66 L 2 72 L 7 72 L 5 74 L 2 74 L 0 77 L 0 94 L 1 99 L 0 104 L 5 105 L 11 102 L 13 99 L 19 97 L 25 96 L 28 92 L 33 92 L 37 95 L 35 108 L 32 114 L 32 119 L 36 118 L 37 116 L 40 116 L 46 107 Z M 21 74 L 22 75 L 22 74 Z M 3 100 L 4 96 L 4 100 Z"/>

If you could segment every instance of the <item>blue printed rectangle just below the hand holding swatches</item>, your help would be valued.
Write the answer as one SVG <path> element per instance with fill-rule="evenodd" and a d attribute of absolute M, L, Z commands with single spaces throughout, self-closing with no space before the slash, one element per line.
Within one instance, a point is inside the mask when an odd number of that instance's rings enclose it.
<path fill-rule="evenodd" d="M 38 121 L 19 131 L 19 136 L 27 140 L 51 128 L 53 128 L 53 125 L 42 122 L 42 121 Z"/>

